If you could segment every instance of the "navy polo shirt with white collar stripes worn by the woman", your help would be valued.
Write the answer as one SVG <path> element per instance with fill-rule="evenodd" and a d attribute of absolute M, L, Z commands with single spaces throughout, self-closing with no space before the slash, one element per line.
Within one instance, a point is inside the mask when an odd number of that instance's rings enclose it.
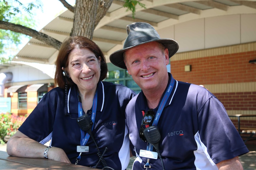
<path fill-rule="evenodd" d="M 129 163 L 129 137 L 125 126 L 125 108 L 136 93 L 123 85 L 110 82 L 99 82 L 97 85 L 97 112 L 92 134 L 107 165 L 113 169 L 126 169 Z M 33 140 L 62 148 L 71 163 L 75 163 L 79 153 L 81 132 L 78 118 L 77 87 L 65 91 L 54 88 L 46 93 L 36 108 L 19 128 L 19 131 Z M 67 114 L 67 112 L 69 114 Z M 91 110 L 87 112 L 91 115 Z M 82 153 L 78 165 L 93 167 L 99 161 L 98 150 L 94 141 L 89 138 L 86 146 L 88 153 Z M 43 153 L 42 153 L 43 154 Z M 101 163 L 97 168 L 102 169 Z"/>

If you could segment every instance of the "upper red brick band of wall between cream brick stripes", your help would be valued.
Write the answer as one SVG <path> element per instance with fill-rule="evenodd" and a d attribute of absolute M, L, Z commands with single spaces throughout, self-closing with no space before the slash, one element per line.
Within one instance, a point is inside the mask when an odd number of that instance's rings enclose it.
<path fill-rule="evenodd" d="M 207 56 L 171 61 L 171 73 L 176 80 L 193 84 L 221 84 L 256 81 L 256 51 Z M 191 72 L 184 72 L 185 65 L 191 65 Z"/>

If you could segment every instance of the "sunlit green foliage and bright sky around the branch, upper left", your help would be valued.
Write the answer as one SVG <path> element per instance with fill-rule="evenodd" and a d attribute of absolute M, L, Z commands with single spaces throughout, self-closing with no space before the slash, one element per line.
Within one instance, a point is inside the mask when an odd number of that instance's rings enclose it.
<path fill-rule="evenodd" d="M 34 20 L 34 9 L 42 9 L 42 2 L 36 0 L 34 2 L 21 3 L 19 0 L 0 0 L 0 20 L 13 24 L 23 25 L 25 27 L 36 27 Z M 12 32 L 10 30 L 0 29 L 0 62 L 10 61 L 18 49 L 18 45 L 28 36 Z M 16 48 L 16 49 L 15 49 Z"/>

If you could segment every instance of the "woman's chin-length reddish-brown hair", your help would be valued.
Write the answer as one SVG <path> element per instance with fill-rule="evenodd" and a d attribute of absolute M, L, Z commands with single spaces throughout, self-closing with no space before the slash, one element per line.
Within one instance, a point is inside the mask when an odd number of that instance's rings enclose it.
<path fill-rule="evenodd" d="M 83 36 L 74 36 L 74 37 L 68 37 L 64 40 L 64 42 L 61 44 L 61 47 L 59 49 L 59 54 L 56 59 L 56 71 L 55 71 L 55 83 L 58 84 L 58 86 L 62 89 L 65 88 L 65 85 L 68 87 L 75 85 L 75 83 L 71 80 L 71 78 L 68 77 L 68 75 L 63 75 L 62 67 L 64 68 L 66 74 L 67 73 L 67 66 L 68 66 L 68 55 L 73 49 L 80 49 L 80 48 L 89 48 L 97 59 L 99 59 L 99 56 L 101 57 L 100 61 L 100 77 L 99 81 L 102 81 L 106 78 L 108 67 L 106 64 L 106 59 L 104 54 L 102 53 L 99 46 L 97 46 L 96 43 L 91 41 L 89 38 L 83 37 Z"/>

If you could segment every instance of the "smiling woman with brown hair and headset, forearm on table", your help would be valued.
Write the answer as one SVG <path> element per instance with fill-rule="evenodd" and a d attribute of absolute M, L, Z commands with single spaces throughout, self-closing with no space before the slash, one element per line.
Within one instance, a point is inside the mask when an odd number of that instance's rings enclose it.
<path fill-rule="evenodd" d="M 83 36 L 67 38 L 56 59 L 59 87 L 44 95 L 9 139 L 7 153 L 126 169 L 129 137 L 124 111 L 135 93 L 123 85 L 102 82 L 107 72 L 105 57 L 93 41 Z M 49 140 L 46 148 L 43 144 Z"/>

